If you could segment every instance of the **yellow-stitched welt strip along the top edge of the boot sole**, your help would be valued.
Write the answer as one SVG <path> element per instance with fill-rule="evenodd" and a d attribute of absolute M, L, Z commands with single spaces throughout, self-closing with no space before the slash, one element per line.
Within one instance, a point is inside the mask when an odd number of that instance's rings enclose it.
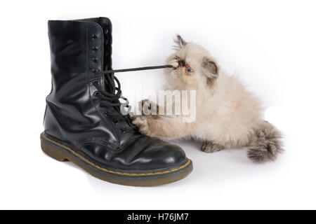
<path fill-rule="evenodd" d="M 58 145 L 62 148 L 65 148 L 67 149 L 67 151 L 70 151 L 70 153 L 74 154 L 74 155 L 77 155 L 77 157 L 79 157 L 81 160 L 84 160 L 84 162 L 87 162 L 89 165 L 93 166 L 93 167 L 96 167 L 97 169 L 100 169 L 104 172 L 109 172 L 109 173 L 112 173 L 112 174 L 120 174 L 120 175 L 129 175 L 129 176 L 152 176 L 152 175 L 157 175 L 157 174 L 168 174 L 168 173 L 171 173 L 171 172 L 176 172 L 177 170 L 179 169 L 183 169 L 184 167 L 187 167 L 187 165 L 190 164 L 190 159 L 187 159 L 187 163 L 185 165 L 183 165 L 182 167 L 179 167 L 177 169 L 171 169 L 171 170 L 167 170 L 167 171 L 164 171 L 164 172 L 157 172 L 157 173 L 148 173 L 148 174 L 128 174 L 128 173 L 121 173 L 121 172 L 114 172 L 112 170 L 108 170 L 108 169 L 104 169 L 102 167 L 99 167 L 97 165 L 95 165 L 93 162 L 90 162 L 89 160 L 87 160 L 86 158 L 84 158 L 83 156 L 79 155 L 78 153 L 72 151 L 71 148 L 67 147 L 67 146 L 63 146 L 62 144 L 59 144 L 58 142 L 55 142 L 51 139 L 48 139 L 48 137 L 45 136 L 45 134 L 41 134 L 42 137 L 44 137 L 44 139 L 46 139 L 47 141 L 51 141 L 53 144 L 55 145 Z"/>

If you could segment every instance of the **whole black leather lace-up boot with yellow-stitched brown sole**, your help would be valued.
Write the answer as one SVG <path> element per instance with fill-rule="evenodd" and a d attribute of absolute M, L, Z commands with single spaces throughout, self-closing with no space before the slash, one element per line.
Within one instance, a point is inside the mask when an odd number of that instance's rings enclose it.
<path fill-rule="evenodd" d="M 154 186 L 183 179 L 192 162 L 176 145 L 140 134 L 119 113 L 107 18 L 48 21 L 52 90 L 46 98 L 41 148 L 104 181 Z M 118 87 L 115 87 L 115 82 Z"/>

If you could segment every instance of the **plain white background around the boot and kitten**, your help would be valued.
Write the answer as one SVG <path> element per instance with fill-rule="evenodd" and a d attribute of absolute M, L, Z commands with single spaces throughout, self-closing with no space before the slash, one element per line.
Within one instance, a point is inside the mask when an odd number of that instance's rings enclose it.
<path fill-rule="evenodd" d="M 316 209 L 315 1 L 1 1 L 0 209 Z M 114 69 L 164 64 L 181 34 L 210 50 L 263 99 L 286 153 L 256 165 L 242 150 L 214 154 L 178 141 L 190 176 L 118 186 L 41 152 L 51 90 L 47 20 L 105 16 Z M 124 95 L 159 90 L 162 71 L 120 73 Z"/>

